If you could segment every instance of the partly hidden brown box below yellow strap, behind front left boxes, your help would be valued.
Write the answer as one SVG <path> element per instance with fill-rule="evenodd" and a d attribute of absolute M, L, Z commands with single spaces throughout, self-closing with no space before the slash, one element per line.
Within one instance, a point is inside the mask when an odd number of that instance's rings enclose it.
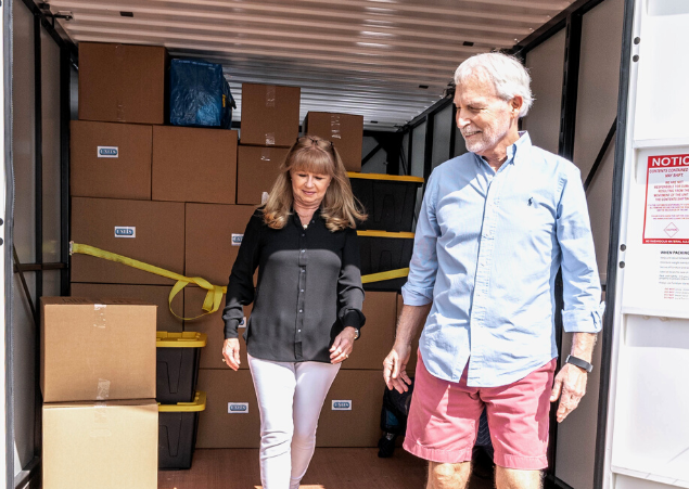
<path fill-rule="evenodd" d="M 69 295 L 73 297 L 112 297 L 117 299 L 135 298 L 157 306 L 157 331 L 182 331 L 182 320 L 170 312 L 168 297 L 171 287 L 165 285 L 125 285 L 125 284 L 82 284 L 73 282 Z M 179 317 L 184 316 L 186 288 L 173 299 L 173 310 Z"/>

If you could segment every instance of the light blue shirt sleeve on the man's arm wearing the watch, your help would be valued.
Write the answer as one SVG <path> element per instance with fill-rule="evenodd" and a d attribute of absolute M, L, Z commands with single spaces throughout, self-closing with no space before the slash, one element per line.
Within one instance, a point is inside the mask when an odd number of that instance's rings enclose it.
<path fill-rule="evenodd" d="M 598 333 L 602 329 L 604 303 L 578 170 L 566 172 L 560 185 L 557 235 L 562 253 L 563 327 L 567 333 Z"/>

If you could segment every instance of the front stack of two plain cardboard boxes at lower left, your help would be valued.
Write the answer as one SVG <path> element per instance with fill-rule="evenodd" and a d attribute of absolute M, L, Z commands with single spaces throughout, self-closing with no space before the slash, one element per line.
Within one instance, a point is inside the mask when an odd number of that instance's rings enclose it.
<path fill-rule="evenodd" d="M 41 298 L 43 488 L 157 487 L 156 308 Z"/>

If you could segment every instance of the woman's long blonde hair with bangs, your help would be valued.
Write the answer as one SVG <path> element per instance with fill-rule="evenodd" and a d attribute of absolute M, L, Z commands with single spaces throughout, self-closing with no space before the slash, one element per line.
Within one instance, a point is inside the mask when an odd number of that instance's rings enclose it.
<path fill-rule="evenodd" d="M 320 215 L 330 231 L 356 229 L 357 221 L 366 220 L 367 215 L 352 193 L 347 171 L 333 143 L 317 136 L 304 136 L 292 145 L 280 166 L 280 175 L 264 207 L 264 222 L 269 228 L 284 228 L 292 215 L 294 195 L 290 170 L 328 175 L 331 178 L 320 204 Z"/>

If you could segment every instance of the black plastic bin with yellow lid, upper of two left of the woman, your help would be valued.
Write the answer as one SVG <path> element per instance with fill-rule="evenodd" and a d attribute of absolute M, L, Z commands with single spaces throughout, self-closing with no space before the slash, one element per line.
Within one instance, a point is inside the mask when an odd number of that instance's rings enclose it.
<path fill-rule="evenodd" d="M 155 399 L 164 404 L 192 402 L 206 334 L 157 332 Z"/>

